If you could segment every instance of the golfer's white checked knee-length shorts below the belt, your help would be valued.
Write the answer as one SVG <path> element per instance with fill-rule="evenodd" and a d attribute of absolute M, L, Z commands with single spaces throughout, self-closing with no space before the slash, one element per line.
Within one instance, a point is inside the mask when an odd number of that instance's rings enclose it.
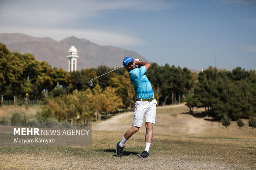
<path fill-rule="evenodd" d="M 133 126 L 142 126 L 143 119 L 145 117 L 145 122 L 152 124 L 156 123 L 156 99 L 151 102 L 141 102 L 135 101 L 135 109 L 133 116 Z"/>

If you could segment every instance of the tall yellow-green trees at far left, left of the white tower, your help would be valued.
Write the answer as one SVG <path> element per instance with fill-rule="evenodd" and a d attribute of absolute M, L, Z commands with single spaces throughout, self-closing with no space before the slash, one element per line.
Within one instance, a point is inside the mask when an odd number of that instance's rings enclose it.
<path fill-rule="evenodd" d="M 12 53 L 0 43 L 0 95 L 4 99 L 43 98 L 57 84 L 69 86 L 70 75 L 37 61 L 32 54 Z"/>

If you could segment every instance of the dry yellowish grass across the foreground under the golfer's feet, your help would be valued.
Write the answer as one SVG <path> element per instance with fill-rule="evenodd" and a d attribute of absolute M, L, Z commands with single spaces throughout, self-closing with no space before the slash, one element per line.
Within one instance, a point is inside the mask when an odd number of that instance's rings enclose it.
<path fill-rule="evenodd" d="M 123 132 L 93 131 L 90 147 L 0 147 L 1 169 L 256 169 L 256 139 L 156 133 L 149 158 L 145 134 L 133 135 L 122 158 L 116 142 Z"/>

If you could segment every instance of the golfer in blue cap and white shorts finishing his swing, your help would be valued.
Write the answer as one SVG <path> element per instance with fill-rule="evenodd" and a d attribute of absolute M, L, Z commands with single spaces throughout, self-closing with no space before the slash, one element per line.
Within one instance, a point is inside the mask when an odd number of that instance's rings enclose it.
<path fill-rule="evenodd" d="M 136 65 L 141 66 L 137 68 Z M 157 101 L 154 99 L 154 92 L 151 83 L 147 79 L 145 72 L 150 68 L 150 64 L 133 60 L 133 58 L 126 57 L 123 59 L 123 66 L 129 72 L 130 82 L 135 90 L 135 109 L 133 116 L 133 126 L 126 131 L 121 142 L 116 143 L 116 156 L 123 156 L 123 148 L 125 142 L 142 126 L 145 117 L 146 125 L 146 139 L 145 151 L 137 154 L 140 158 L 149 157 L 149 147 L 153 137 L 153 124 L 156 120 L 156 105 Z"/>

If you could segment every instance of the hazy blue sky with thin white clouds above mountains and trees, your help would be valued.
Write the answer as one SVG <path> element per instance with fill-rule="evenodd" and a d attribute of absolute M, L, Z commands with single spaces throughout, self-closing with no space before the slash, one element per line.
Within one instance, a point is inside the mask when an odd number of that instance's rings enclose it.
<path fill-rule="evenodd" d="M 218 68 L 256 69 L 256 0 L 0 0 L 0 33 L 73 35 L 182 68 L 215 66 L 217 51 Z"/>

